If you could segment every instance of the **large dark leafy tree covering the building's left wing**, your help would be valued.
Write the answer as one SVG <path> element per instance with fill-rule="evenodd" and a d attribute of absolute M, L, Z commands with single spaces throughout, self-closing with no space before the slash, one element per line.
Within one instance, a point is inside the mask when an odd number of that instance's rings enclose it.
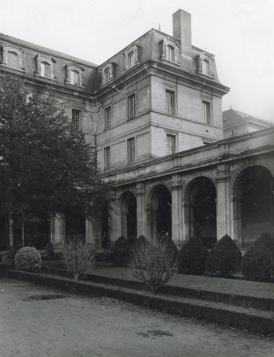
<path fill-rule="evenodd" d="M 0 195 L 17 221 L 73 208 L 94 218 L 112 183 L 98 179 L 96 152 L 52 93 L 33 94 L 16 78 L 0 82 Z"/>

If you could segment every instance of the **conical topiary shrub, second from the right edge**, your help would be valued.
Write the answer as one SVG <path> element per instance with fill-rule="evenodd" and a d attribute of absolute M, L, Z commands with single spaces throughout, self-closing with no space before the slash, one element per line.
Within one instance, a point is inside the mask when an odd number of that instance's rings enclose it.
<path fill-rule="evenodd" d="M 241 265 L 242 254 L 235 242 L 227 234 L 209 252 L 206 271 L 214 276 L 228 277 Z"/>

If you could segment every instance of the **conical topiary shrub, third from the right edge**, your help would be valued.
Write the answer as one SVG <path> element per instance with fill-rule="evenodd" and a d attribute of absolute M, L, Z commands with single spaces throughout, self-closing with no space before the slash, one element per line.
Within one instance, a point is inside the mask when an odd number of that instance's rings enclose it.
<path fill-rule="evenodd" d="M 180 250 L 179 273 L 204 274 L 208 249 L 201 238 L 191 237 Z"/>

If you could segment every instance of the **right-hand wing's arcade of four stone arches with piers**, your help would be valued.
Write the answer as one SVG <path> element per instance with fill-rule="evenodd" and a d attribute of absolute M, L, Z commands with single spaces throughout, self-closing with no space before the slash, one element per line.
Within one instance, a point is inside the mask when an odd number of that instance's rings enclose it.
<path fill-rule="evenodd" d="M 180 247 L 192 235 L 211 248 L 230 235 L 245 250 L 265 230 L 274 234 L 274 179 L 262 165 L 227 167 L 199 176 L 135 185 L 120 193 L 110 238 L 168 235 Z M 113 225 L 114 220 L 118 224 Z M 114 222 L 115 223 L 115 222 Z"/>

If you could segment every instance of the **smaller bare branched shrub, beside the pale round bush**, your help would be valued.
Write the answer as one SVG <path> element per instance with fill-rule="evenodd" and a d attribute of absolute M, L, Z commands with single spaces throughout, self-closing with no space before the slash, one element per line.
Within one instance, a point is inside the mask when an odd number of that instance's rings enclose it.
<path fill-rule="evenodd" d="M 93 245 L 85 242 L 79 235 L 67 237 L 62 243 L 63 257 L 74 279 L 88 274 L 96 261 L 96 253 Z"/>

